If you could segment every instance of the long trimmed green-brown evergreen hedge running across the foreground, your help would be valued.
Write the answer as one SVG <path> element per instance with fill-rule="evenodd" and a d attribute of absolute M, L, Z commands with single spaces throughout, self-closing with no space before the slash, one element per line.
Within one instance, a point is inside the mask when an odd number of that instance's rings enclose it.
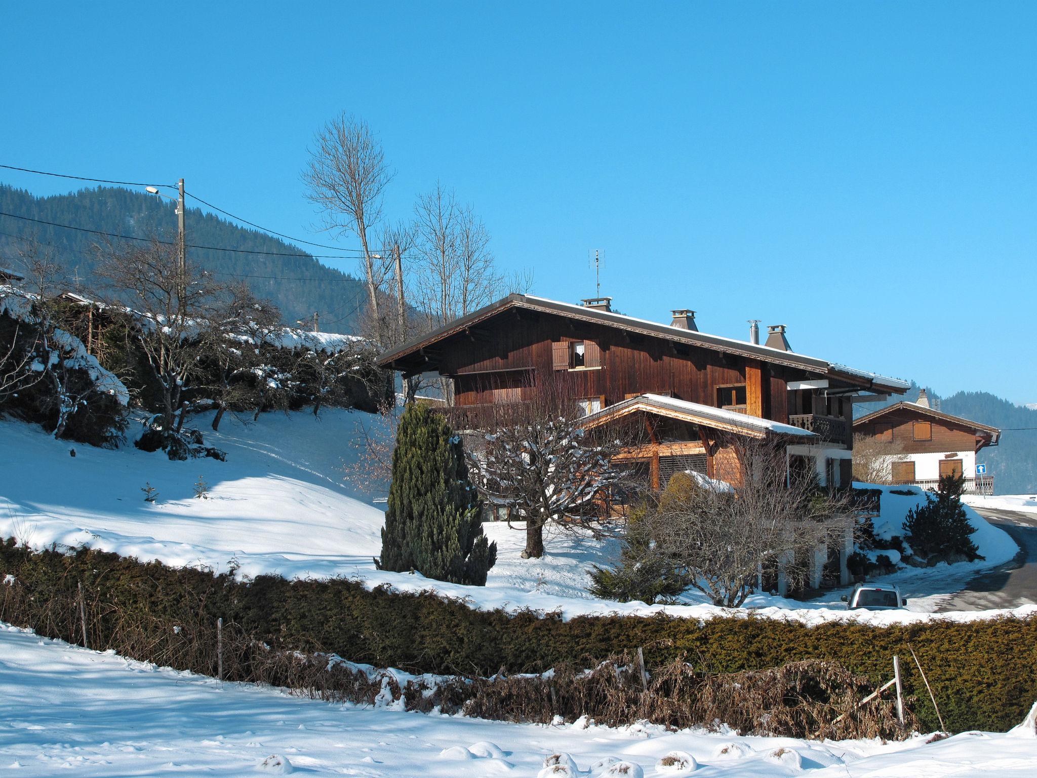
<path fill-rule="evenodd" d="M 910 659 L 913 646 L 949 730 L 1005 730 L 1037 699 L 1037 617 L 933 620 L 875 628 L 806 627 L 768 618 L 582 616 L 473 610 L 430 593 L 365 589 L 358 581 L 252 581 L 207 571 L 142 563 L 99 551 L 32 552 L 0 543 L 0 620 L 79 642 L 79 594 L 91 648 L 214 674 L 212 652 L 178 647 L 185 635 L 211 639 L 218 617 L 275 649 L 337 654 L 412 672 L 486 676 L 594 667 L 644 648 L 649 669 L 683 660 L 704 672 L 740 672 L 823 660 L 891 677 L 899 655 L 904 689 L 923 729 L 938 722 Z M 128 624 L 132 624 L 128 627 Z M 176 628 L 176 629 L 174 629 Z M 155 633 L 155 634 L 151 634 Z"/>

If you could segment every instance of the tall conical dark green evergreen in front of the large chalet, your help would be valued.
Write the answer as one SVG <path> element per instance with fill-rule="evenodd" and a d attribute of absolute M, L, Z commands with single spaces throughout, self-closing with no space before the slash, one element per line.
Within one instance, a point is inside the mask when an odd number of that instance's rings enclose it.
<path fill-rule="evenodd" d="M 403 412 L 392 455 L 380 569 L 484 586 L 497 544 L 482 534 L 482 505 L 460 438 L 425 406 Z"/>

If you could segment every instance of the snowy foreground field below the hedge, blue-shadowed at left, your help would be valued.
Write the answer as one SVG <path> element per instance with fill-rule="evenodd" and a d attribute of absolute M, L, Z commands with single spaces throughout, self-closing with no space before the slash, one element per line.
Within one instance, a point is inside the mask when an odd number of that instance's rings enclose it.
<path fill-rule="evenodd" d="M 964 732 L 808 742 L 731 732 L 536 725 L 331 704 L 279 690 L 220 685 L 0 623 L 0 771 L 11 776 L 533 776 L 545 760 L 588 778 L 675 776 L 679 752 L 703 776 L 1033 775 L 1033 722 Z M 1031 715 L 1032 718 L 1032 715 Z M 694 763 L 686 759 L 688 763 Z M 620 765 L 625 763 L 625 770 Z M 612 772 L 610 772 L 610 769 Z"/>

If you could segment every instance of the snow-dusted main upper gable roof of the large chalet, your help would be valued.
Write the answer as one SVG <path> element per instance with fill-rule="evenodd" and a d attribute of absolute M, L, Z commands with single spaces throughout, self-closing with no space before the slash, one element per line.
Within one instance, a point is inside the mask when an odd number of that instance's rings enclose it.
<path fill-rule="evenodd" d="M 698 332 L 697 330 L 686 330 L 682 327 L 673 327 L 672 325 L 660 324 L 645 318 L 638 318 L 637 316 L 627 316 L 615 311 L 589 308 L 535 295 L 517 294 L 509 295 L 467 316 L 461 316 L 455 322 L 451 322 L 431 333 L 415 338 L 391 352 L 387 352 L 380 357 L 379 363 L 383 367 L 390 366 L 393 362 L 407 358 L 409 355 L 418 352 L 431 342 L 464 332 L 471 326 L 511 307 L 556 313 L 596 324 L 619 327 L 650 337 L 664 337 L 668 340 L 712 349 L 728 354 L 736 354 L 749 359 L 760 359 L 772 364 L 802 368 L 820 376 L 842 379 L 852 384 L 860 385 L 862 382 L 867 382 L 868 385 L 863 387 L 866 390 L 902 393 L 910 388 L 908 382 L 900 379 L 893 379 L 877 372 L 847 367 L 838 362 L 830 362 L 829 360 L 810 357 L 805 354 L 786 352 L 781 349 L 751 343 L 747 340 L 737 340 L 722 335 L 710 335 Z"/>

